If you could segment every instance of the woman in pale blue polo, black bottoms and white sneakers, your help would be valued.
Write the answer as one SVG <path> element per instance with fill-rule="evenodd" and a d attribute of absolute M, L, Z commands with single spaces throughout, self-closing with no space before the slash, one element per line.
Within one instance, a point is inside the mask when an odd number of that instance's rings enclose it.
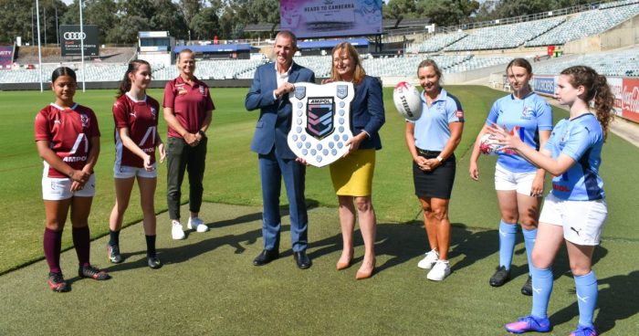
<path fill-rule="evenodd" d="M 442 71 L 426 59 L 417 67 L 423 112 L 406 122 L 406 145 L 413 156 L 415 194 L 424 210 L 430 252 L 417 267 L 430 269 L 426 278 L 441 281 L 450 274 L 448 203 L 455 182 L 455 149 L 462 139 L 464 111 L 455 96 L 441 87 Z"/>

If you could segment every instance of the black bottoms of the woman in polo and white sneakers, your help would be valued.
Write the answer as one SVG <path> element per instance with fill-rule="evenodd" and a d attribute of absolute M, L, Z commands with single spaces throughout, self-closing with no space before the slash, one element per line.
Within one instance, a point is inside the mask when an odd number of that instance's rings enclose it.
<path fill-rule="evenodd" d="M 440 152 L 418 150 L 420 156 L 426 159 L 434 159 Z M 449 156 L 434 171 L 424 172 L 413 162 L 413 183 L 415 194 L 421 198 L 450 199 L 455 182 L 456 159 L 455 154 Z"/>

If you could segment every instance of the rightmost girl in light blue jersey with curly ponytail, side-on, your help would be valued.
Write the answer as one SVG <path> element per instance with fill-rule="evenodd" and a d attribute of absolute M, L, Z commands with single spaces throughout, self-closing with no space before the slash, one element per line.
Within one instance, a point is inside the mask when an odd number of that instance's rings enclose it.
<path fill-rule="evenodd" d="M 592 324 L 597 303 L 597 278 L 592 252 L 599 244 L 608 213 L 599 175 L 602 145 L 613 119 L 614 96 L 606 78 L 592 68 L 578 66 L 561 71 L 557 99 L 570 107 L 570 118 L 557 123 L 541 152 L 497 124 L 489 131 L 506 148 L 554 177 L 552 191 L 539 216 L 539 232 L 532 251 L 532 311 L 508 323 L 515 333 L 550 331 L 547 310 L 552 291 L 552 263 L 565 242 L 579 307 L 579 324 L 571 336 L 596 336 Z M 594 100 L 594 111 L 589 102 Z"/>

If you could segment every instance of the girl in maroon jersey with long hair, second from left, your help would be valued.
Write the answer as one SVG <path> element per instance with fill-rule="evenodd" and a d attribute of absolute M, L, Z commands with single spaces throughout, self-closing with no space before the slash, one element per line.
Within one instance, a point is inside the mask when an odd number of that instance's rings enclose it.
<path fill-rule="evenodd" d="M 164 160 L 165 152 L 158 133 L 160 104 L 146 94 L 150 83 L 149 63 L 141 59 L 131 61 L 120 83 L 118 100 L 113 104 L 116 155 L 113 177 L 116 200 L 109 219 L 110 241 L 107 254 L 113 263 L 124 260 L 120 256 L 120 228 L 137 177 L 146 236 L 147 264 L 150 268 L 161 268 L 162 263 L 155 253 L 155 148 L 160 152 L 160 162 Z"/>

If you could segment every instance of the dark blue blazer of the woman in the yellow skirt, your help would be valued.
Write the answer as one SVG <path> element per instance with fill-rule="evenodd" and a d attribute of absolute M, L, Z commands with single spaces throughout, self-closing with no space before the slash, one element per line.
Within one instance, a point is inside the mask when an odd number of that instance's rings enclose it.
<path fill-rule="evenodd" d="M 360 143 L 360 149 L 382 149 L 379 131 L 384 122 L 382 83 L 377 78 L 364 76 L 360 84 L 355 85 L 355 98 L 351 101 L 352 135 L 366 131 L 371 136 Z"/>

